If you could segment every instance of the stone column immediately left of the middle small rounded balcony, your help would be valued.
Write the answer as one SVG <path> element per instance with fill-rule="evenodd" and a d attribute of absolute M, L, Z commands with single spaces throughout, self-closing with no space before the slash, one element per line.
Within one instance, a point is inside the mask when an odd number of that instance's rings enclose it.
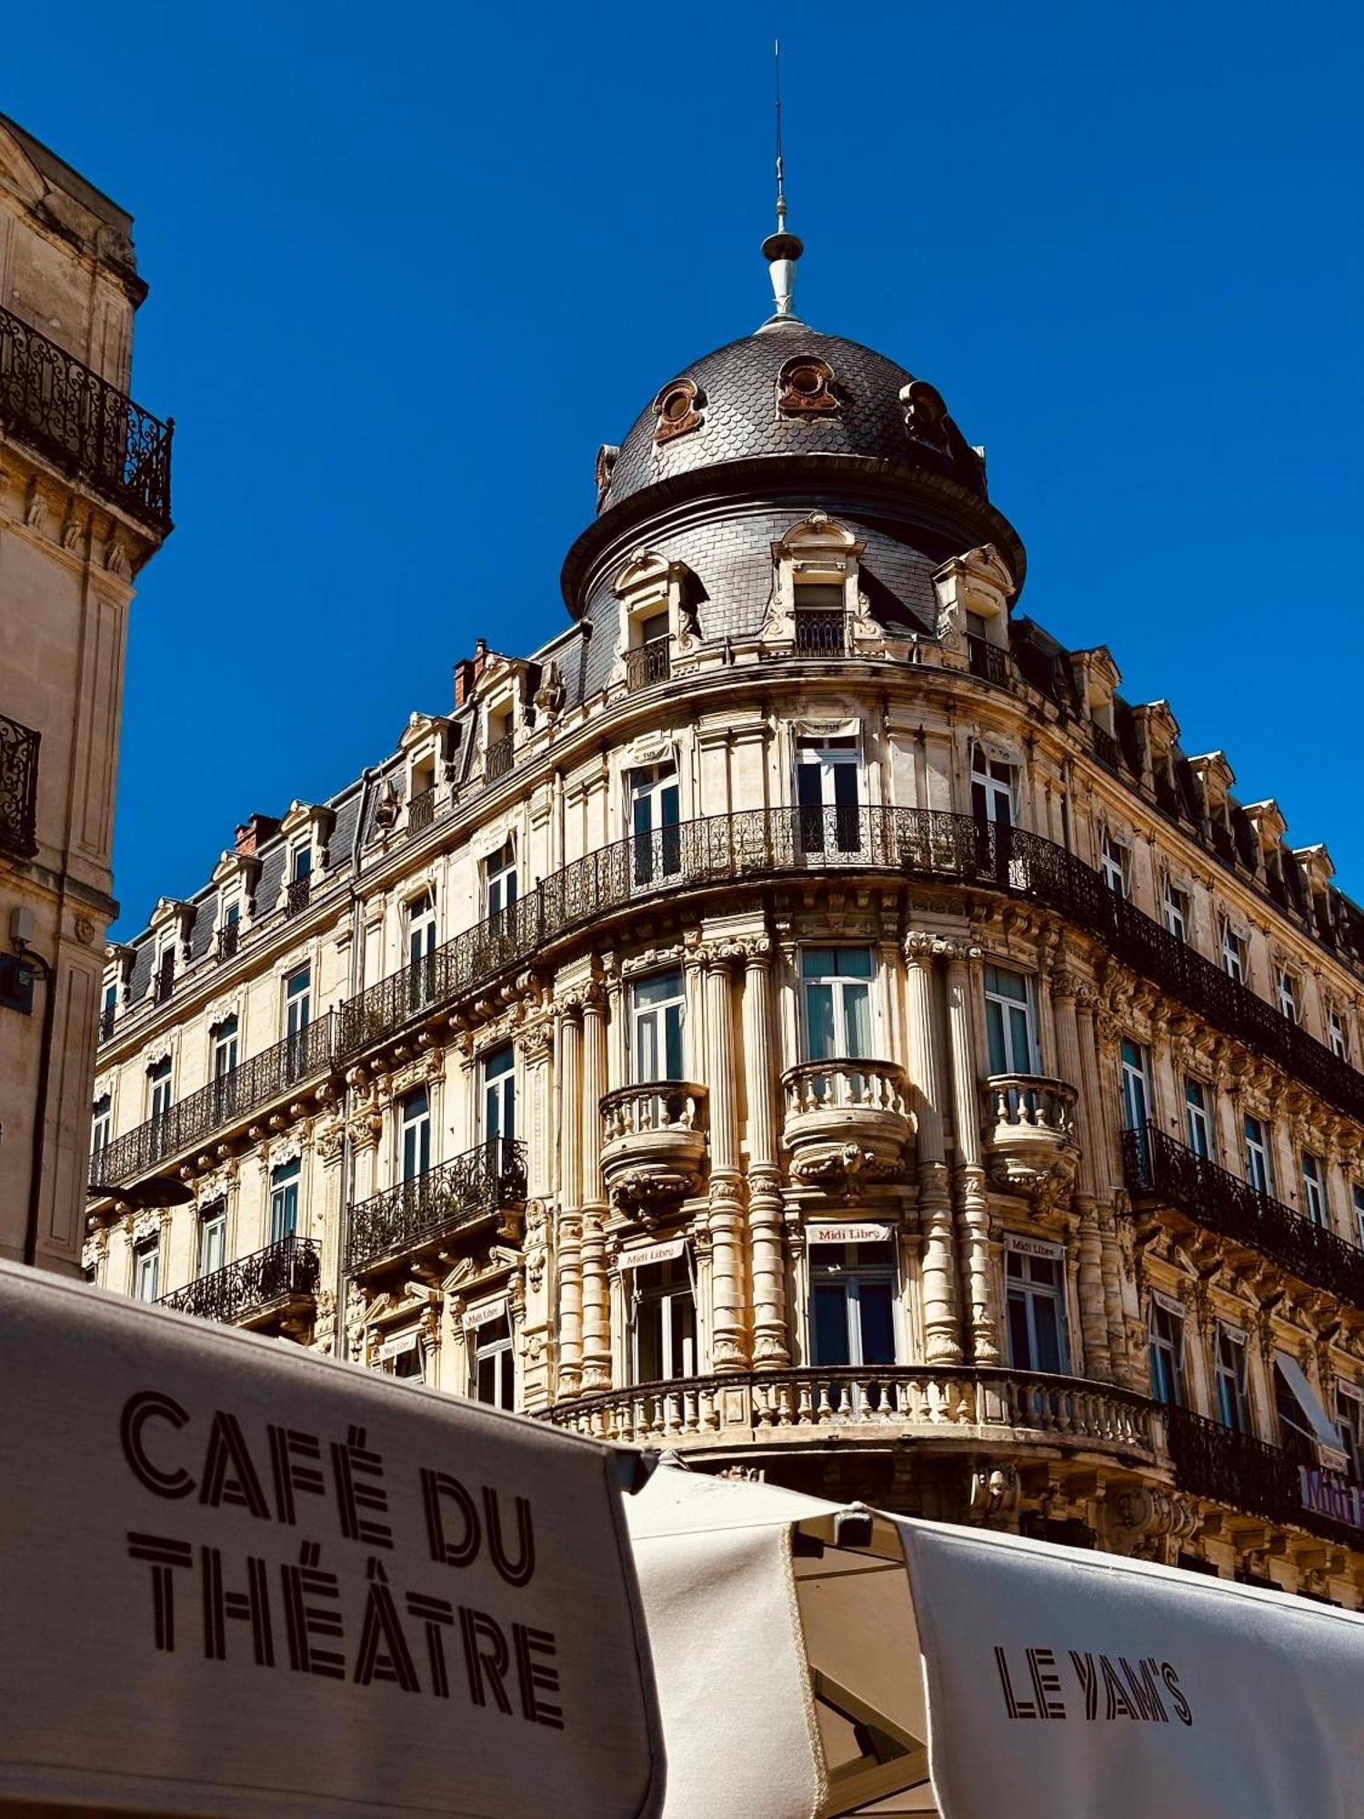
<path fill-rule="evenodd" d="M 791 1362 L 786 1332 L 786 1259 L 782 1257 L 782 1190 L 777 1170 L 773 1093 L 771 942 L 744 944 L 744 1084 L 747 1097 L 747 1226 L 753 1251 L 753 1364 L 780 1370 Z"/>

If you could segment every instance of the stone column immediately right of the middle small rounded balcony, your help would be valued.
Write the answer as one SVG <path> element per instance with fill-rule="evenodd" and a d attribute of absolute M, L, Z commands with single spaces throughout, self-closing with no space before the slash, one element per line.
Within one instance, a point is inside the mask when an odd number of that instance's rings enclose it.
<path fill-rule="evenodd" d="M 918 1131 L 918 1219 L 924 1231 L 924 1350 L 929 1364 L 960 1364 L 957 1319 L 957 1244 L 942 1146 L 946 1100 L 942 1051 L 933 1015 L 933 935 L 904 939 L 909 999 L 909 1073 Z"/>

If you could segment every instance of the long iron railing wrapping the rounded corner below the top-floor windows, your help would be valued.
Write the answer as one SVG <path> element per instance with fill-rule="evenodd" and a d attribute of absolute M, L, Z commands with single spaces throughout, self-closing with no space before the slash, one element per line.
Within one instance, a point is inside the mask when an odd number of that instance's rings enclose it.
<path fill-rule="evenodd" d="M 742 809 L 598 848 L 542 879 L 511 910 L 349 999 L 340 1010 L 340 1053 L 384 1040 L 609 911 L 682 889 L 833 869 L 971 884 L 1044 904 L 1224 1035 L 1364 1121 L 1362 1073 L 1108 889 L 1075 853 L 1018 828 L 922 808 Z"/>

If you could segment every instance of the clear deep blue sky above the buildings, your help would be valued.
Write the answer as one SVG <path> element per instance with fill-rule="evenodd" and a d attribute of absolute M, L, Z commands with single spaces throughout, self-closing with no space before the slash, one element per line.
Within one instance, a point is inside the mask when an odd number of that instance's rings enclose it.
<path fill-rule="evenodd" d="M 935 380 L 1029 549 L 1364 895 L 1359 5 L 111 9 L 0 107 L 136 216 L 176 531 L 133 608 L 122 933 L 531 649 L 593 458 L 767 307 Z"/>

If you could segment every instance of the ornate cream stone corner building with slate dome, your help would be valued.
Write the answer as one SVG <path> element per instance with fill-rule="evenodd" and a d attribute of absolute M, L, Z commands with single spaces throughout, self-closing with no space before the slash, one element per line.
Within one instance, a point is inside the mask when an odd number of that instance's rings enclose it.
<path fill-rule="evenodd" d="M 1364 911 L 782 306 L 602 449 L 560 637 L 111 951 L 93 1279 L 1355 1608 Z"/>

